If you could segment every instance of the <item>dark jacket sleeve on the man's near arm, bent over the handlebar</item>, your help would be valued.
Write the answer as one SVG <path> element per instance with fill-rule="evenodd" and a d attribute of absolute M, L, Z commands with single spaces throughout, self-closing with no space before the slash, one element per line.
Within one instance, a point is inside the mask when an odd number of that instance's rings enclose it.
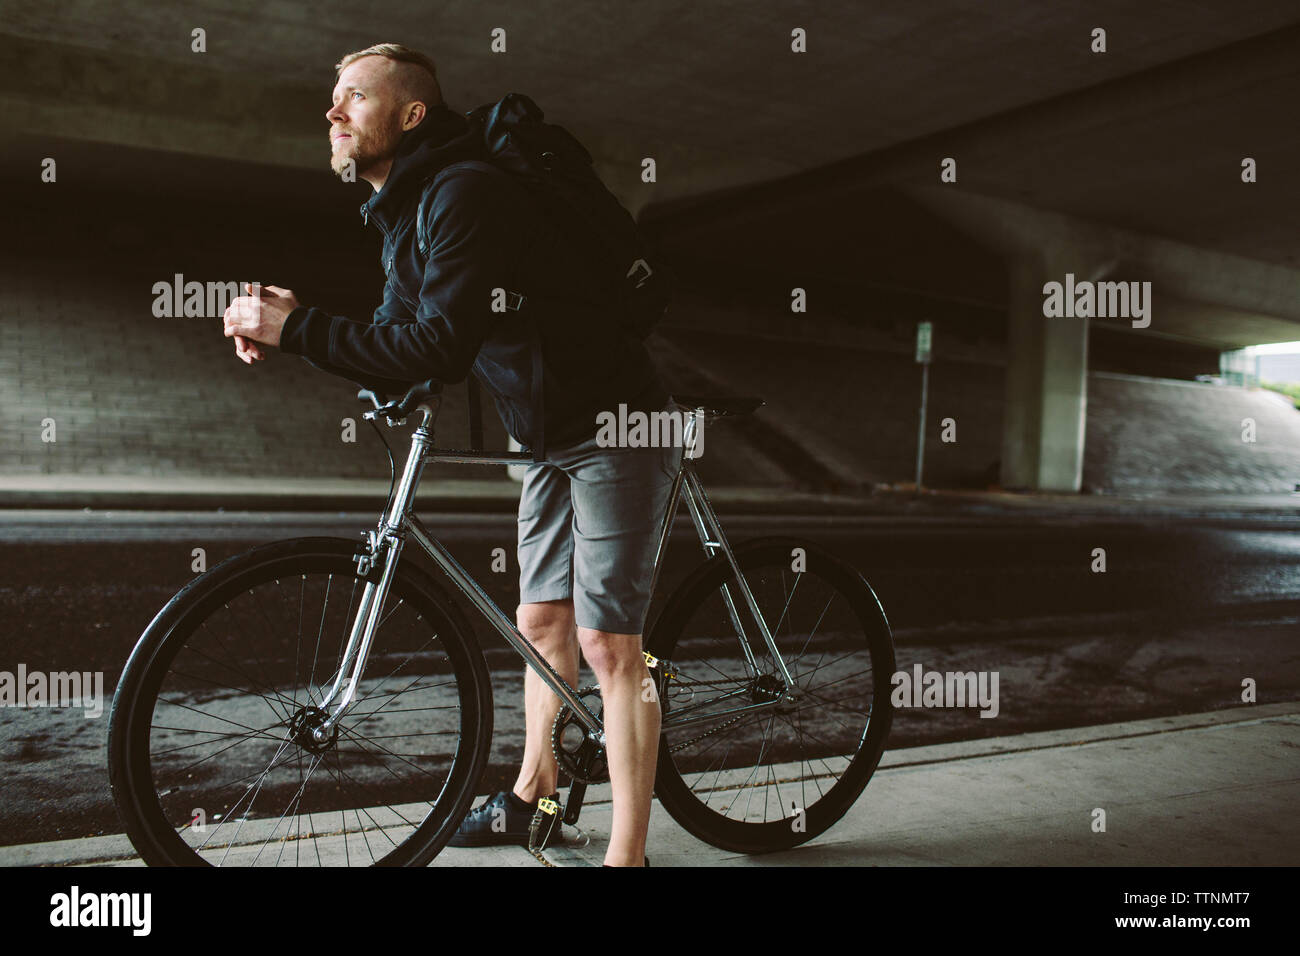
<path fill-rule="evenodd" d="M 432 248 L 415 321 L 367 324 L 300 307 L 285 323 L 281 350 L 369 378 L 462 381 L 502 317 L 493 290 L 512 287 L 530 241 L 507 186 L 473 168 L 442 181 L 426 213 Z M 385 289 L 381 310 L 387 300 Z"/>

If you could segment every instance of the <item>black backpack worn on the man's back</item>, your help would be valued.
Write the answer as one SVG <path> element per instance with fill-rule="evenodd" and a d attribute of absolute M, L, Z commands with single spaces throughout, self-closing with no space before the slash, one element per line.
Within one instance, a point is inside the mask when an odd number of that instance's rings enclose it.
<path fill-rule="evenodd" d="M 515 176 L 542 215 L 584 252 L 590 263 L 584 278 L 607 302 L 628 334 L 644 339 L 668 311 L 673 276 L 647 248 L 632 213 L 610 193 L 592 166 L 592 153 L 563 126 L 543 122 L 542 111 L 523 94 L 507 94 L 465 114 L 482 131 L 482 159 Z M 448 164 L 443 169 L 459 165 Z M 439 173 L 443 170 L 438 170 Z M 416 213 L 420 256 L 429 256 L 425 208 L 428 186 Z M 526 297 L 512 293 L 511 308 Z"/>

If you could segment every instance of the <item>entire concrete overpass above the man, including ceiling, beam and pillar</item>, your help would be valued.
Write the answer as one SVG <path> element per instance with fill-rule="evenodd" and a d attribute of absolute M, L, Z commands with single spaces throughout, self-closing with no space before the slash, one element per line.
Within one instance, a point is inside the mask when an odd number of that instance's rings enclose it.
<path fill-rule="evenodd" d="M 684 334 L 702 313 L 828 339 L 906 337 L 927 319 L 936 354 L 1002 342 L 1008 488 L 1079 490 L 1092 356 L 1158 373 L 1300 338 L 1294 4 L 543 0 L 363 18 L 342 3 L 6 0 L 0 13 L 0 176 L 21 225 L 6 252 L 66 255 L 69 230 L 90 229 L 108 248 L 73 243 L 72 267 L 135 250 L 156 271 L 240 233 L 214 235 L 200 209 L 234 209 L 244 232 L 255 220 L 265 255 L 355 230 L 365 187 L 341 189 L 325 163 L 332 65 L 398 39 L 436 59 L 454 107 L 525 91 L 597 153 L 684 272 L 686 303 L 728 307 L 675 310 Z M 506 52 L 491 51 L 498 27 Z M 60 185 L 42 193 L 47 156 Z M 940 178 L 945 157 L 956 182 Z M 1257 182 L 1242 181 L 1245 157 Z M 107 217 L 98 229 L 87 207 Z M 182 212 L 156 229 L 168 207 Z M 324 272 L 352 256 L 317 243 Z M 1045 319 L 1044 282 L 1067 273 L 1150 282 L 1149 325 Z M 790 313 L 793 287 L 806 315 Z"/>

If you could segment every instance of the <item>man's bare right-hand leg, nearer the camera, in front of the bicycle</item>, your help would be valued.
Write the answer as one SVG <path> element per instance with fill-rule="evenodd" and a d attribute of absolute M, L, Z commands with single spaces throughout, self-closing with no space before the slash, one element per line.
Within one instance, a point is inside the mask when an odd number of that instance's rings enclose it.
<path fill-rule="evenodd" d="M 580 627 L 577 637 L 601 684 L 604 708 L 604 757 L 614 791 L 614 825 L 604 862 L 642 866 L 659 752 L 659 698 L 641 650 L 641 635 Z"/>

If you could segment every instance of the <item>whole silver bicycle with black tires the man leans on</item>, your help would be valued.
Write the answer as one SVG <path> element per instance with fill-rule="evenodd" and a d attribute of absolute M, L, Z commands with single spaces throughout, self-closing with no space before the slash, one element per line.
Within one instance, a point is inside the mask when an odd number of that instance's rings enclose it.
<path fill-rule="evenodd" d="M 460 605 L 402 559 L 408 540 L 559 696 L 551 743 L 571 778 L 564 822 L 577 822 L 586 786 L 607 779 L 599 688 L 569 687 L 412 512 L 429 460 L 530 455 L 436 449 L 438 382 L 396 401 L 358 397 L 376 431 L 380 418 L 394 427 L 422 416 L 400 481 L 389 449 L 377 528 L 361 542 L 291 538 L 221 562 L 157 613 L 130 654 L 109 718 L 109 783 L 150 865 L 421 866 L 446 845 L 488 760 L 491 684 Z M 675 402 L 686 420 L 653 589 L 681 499 L 706 558 L 644 639 L 662 708 L 655 793 L 716 847 L 794 847 L 840 819 L 879 763 L 893 715 L 889 623 L 866 579 L 819 545 L 732 548 L 723 535 L 696 440 L 706 421 L 763 402 Z"/>

